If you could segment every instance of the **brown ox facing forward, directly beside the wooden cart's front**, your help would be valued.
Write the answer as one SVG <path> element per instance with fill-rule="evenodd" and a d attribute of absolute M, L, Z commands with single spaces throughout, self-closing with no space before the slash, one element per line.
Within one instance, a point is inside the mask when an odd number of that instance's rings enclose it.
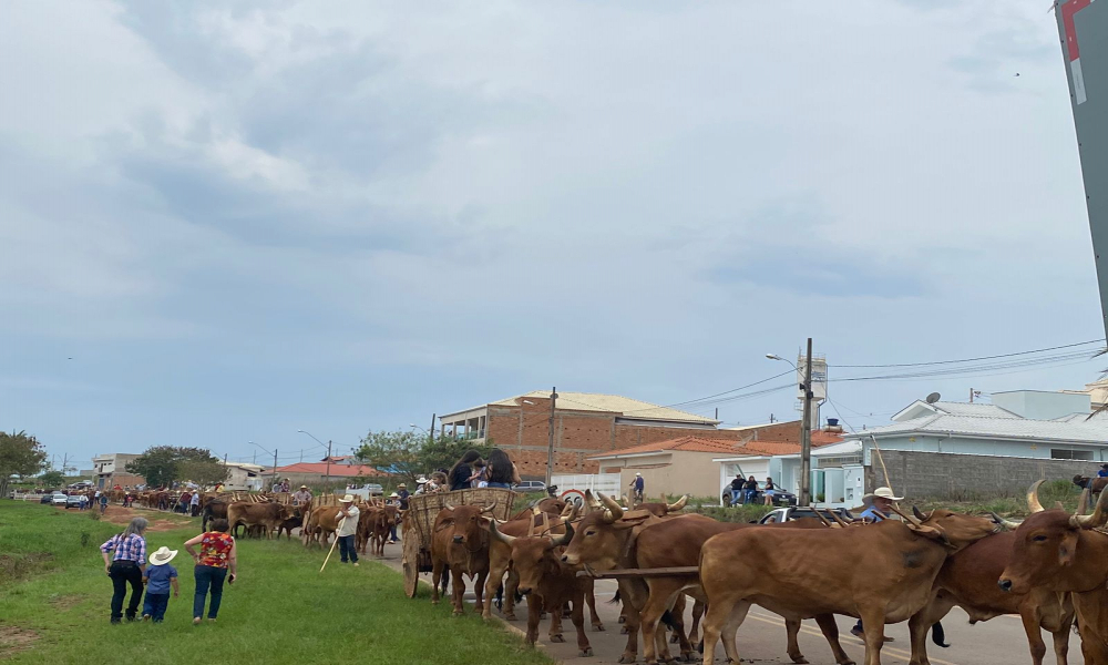
<path fill-rule="evenodd" d="M 461 614 L 462 595 L 465 593 L 465 581 L 462 575 L 469 575 L 473 582 L 473 594 L 476 596 L 476 607 L 483 605 L 485 576 L 489 574 L 489 531 L 485 525 L 491 518 L 486 513 L 493 511 L 495 502 L 489 508 L 480 505 L 459 505 L 449 503 L 439 511 L 431 529 L 431 602 L 439 603 L 439 581 L 445 569 L 452 577 L 454 614 Z"/>

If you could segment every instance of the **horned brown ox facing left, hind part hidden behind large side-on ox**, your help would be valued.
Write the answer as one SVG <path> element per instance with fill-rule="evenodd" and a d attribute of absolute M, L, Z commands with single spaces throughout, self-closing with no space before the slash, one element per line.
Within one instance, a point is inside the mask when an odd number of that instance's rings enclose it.
<path fill-rule="evenodd" d="M 689 514 L 657 520 L 639 529 L 634 522 L 620 522 L 623 511 L 612 499 L 602 495 L 606 511 L 586 515 L 577 526 L 576 536 L 566 549 L 563 561 L 570 564 L 587 564 L 598 570 L 614 567 L 625 569 L 658 569 L 697 565 L 700 549 L 708 539 L 717 533 L 756 528 L 756 524 L 717 522 L 710 518 Z M 804 520 L 774 524 L 784 528 L 823 529 L 818 520 Z M 771 526 L 759 529 L 765 531 Z M 637 535 L 633 531 L 638 531 Z M 691 640 L 678 623 L 678 607 L 683 593 L 688 593 L 699 603 L 705 600 L 705 593 L 699 586 L 696 573 L 665 577 L 647 577 L 644 580 L 624 580 L 619 583 L 619 593 L 624 606 L 638 612 L 628 616 L 630 636 L 627 647 L 620 657 L 620 663 L 633 663 L 637 656 L 638 636 L 635 624 L 643 632 L 643 652 L 647 663 L 656 663 L 658 658 L 669 659 L 665 635 L 658 633 L 658 622 L 670 613 L 669 621 L 675 623 L 675 636 L 680 644 L 681 656 L 693 659 Z M 787 651 L 796 663 L 807 663 L 800 653 L 797 636 L 800 633 L 800 617 L 786 616 L 788 635 Z M 841 664 L 851 663 L 850 657 L 839 644 L 839 628 L 830 614 L 817 616 L 820 628 L 823 630 L 835 661 Z M 694 636 L 695 640 L 695 636 Z"/>

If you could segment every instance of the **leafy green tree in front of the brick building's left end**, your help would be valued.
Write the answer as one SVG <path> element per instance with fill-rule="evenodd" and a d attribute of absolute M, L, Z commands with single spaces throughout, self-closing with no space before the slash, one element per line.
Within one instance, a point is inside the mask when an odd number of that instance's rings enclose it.
<path fill-rule="evenodd" d="M 380 471 L 416 479 L 438 469 L 450 469 L 466 450 L 474 449 L 486 457 L 491 446 L 474 446 L 451 437 L 430 440 L 411 431 L 369 432 L 361 440 L 355 457 Z"/>

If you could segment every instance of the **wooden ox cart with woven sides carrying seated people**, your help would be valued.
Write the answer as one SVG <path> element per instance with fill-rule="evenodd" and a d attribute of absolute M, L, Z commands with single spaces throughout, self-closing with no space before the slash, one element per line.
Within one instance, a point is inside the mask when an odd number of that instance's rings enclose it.
<path fill-rule="evenodd" d="M 404 594 L 416 597 L 419 586 L 419 574 L 431 572 L 431 528 L 439 511 L 451 505 L 489 507 L 494 502 L 491 516 L 507 521 L 512 514 L 512 504 L 516 493 L 503 488 L 481 488 L 475 490 L 456 490 L 454 492 L 435 492 L 433 494 L 412 494 L 408 499 L 408 511 L 403 520 L 403 553 L 400 562 L 404 570 Z"/>

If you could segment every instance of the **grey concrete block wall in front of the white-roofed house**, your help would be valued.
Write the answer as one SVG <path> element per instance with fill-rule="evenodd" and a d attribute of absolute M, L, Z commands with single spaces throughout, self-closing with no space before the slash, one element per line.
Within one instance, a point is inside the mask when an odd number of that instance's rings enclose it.
<path fill-rule="evenodd" d="M 1022 497 L 1036 480 L 1070 481 L 1074 475 L 1096 475 L 1099 466 L 1071 460 L 885 450 L 884 447 L 882 457 L 893 490 L 909 500 Z M 876 456 L 872 460 L 865 468 L 869 492 L 885 484 Z"/>

